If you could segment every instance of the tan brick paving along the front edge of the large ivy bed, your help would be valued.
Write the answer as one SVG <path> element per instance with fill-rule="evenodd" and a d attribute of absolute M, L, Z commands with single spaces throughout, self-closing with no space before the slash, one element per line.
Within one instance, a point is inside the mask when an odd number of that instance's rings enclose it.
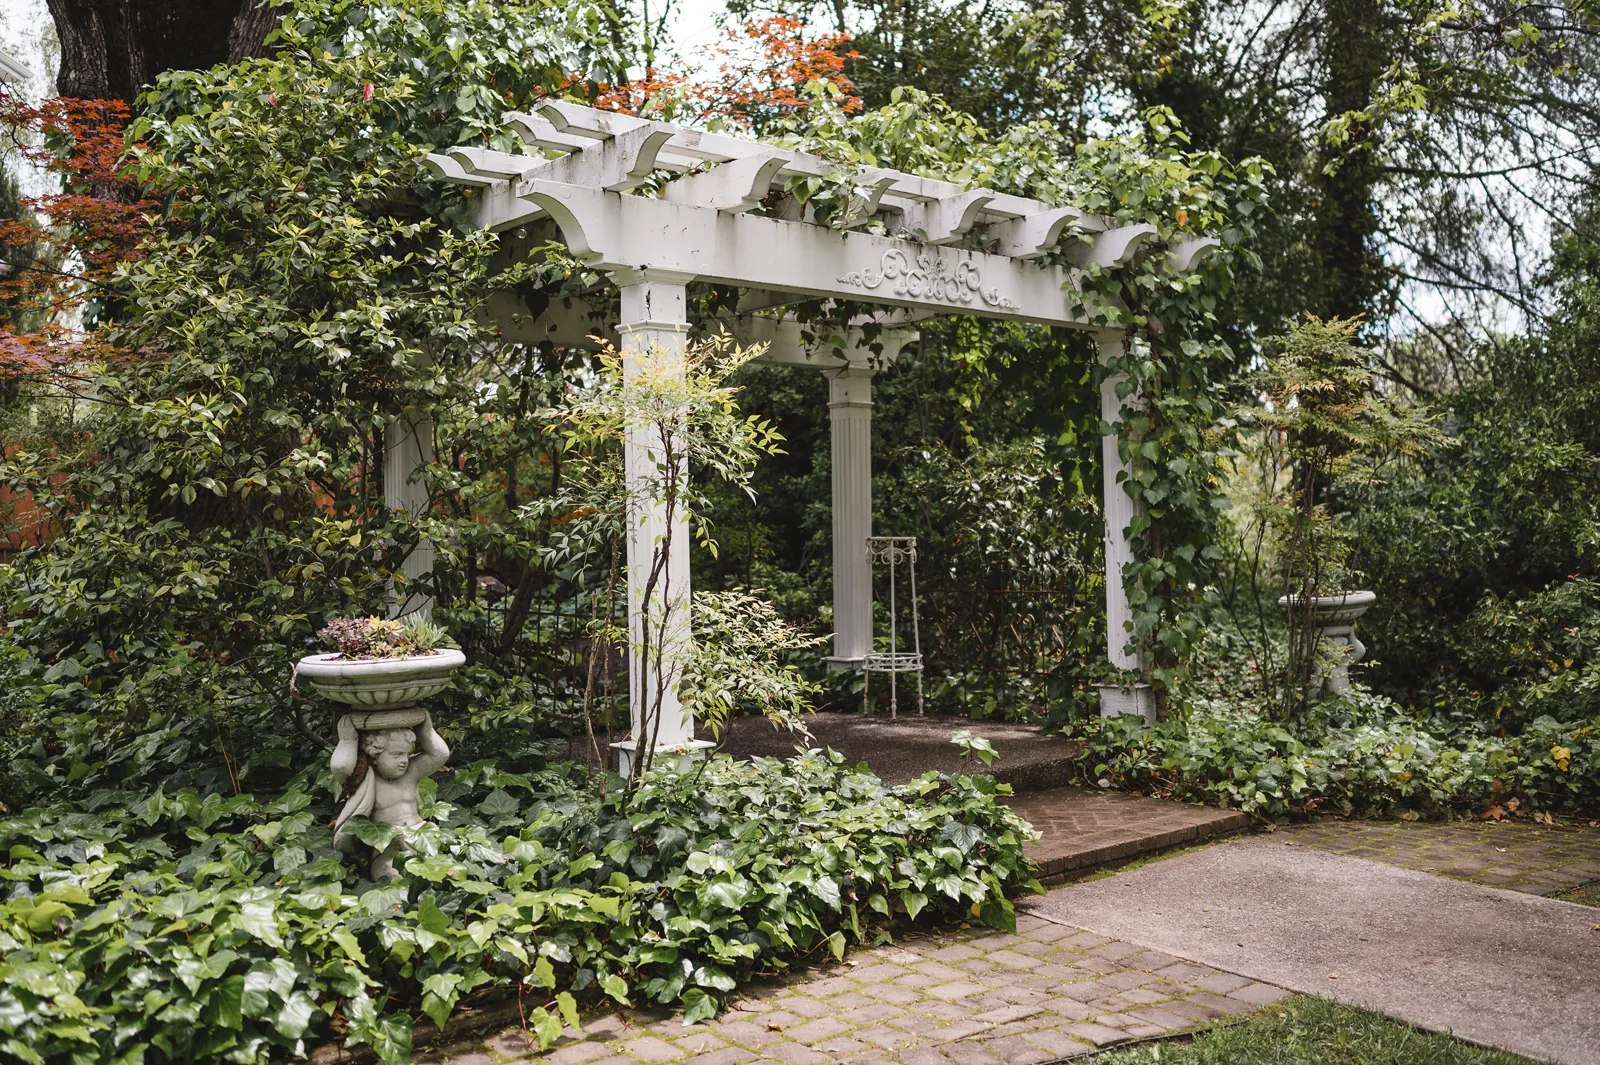
<path fill-rule="evenodd" d="M 1104 935 L 1022 916 L 851 955 L 741 991 L 714 1020 L 624 1011 L 542 1057 L 512 1028 L 426 1062 L 494 1065 L 1034 1065 L 1208 1025 L 1286 991 Z"/>

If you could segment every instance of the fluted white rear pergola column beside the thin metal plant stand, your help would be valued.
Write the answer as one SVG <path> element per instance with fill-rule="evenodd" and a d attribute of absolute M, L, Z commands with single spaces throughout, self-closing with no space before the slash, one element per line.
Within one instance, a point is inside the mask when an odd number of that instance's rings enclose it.
<path fill-rule="evenodd" d="M 872 368 L 829 371 L 834 438 L 834 654 L 830 668 L 854 668 L 872 649 Z"/>

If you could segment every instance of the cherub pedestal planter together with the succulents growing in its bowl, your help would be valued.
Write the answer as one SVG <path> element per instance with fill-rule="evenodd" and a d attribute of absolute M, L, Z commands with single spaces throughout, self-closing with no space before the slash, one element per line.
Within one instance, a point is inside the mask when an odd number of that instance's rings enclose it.
<path fill-rule="evenodd" d="M 339 716 L 339 744 L 330 763 L 347 796 L 334 822 L 334 846 L 354 852 L 357 840 L 346 832 L 352 817 L 379 825 L 421 824 L 418 784 L 445 764 L 450 747 L 416 702 L 448 688 L 450 675 L 467 659 L 445 646 L 443 628 L 424 620 L 338 617 L 318 635 L 338 651 L 306 656 L 294 676 L 323 699 L 360 707 Z M 395 857 L 403 852 L 400 836 L 373 851 L 371 878 L 394 878 Z"/>

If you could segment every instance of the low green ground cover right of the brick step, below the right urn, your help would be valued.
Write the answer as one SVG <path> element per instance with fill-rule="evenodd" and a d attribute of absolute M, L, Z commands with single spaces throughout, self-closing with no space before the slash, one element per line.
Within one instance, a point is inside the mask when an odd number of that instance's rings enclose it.
<path fill-rule="evenodd" d="M 1355 691 L 1296 724 L 1197 704 L 1149 728 L 1080 723 L 1091 782 L 1214 803 L 1283 822 L 1310 812 L 1445 816 L 1517 798 L 1530 811 L 1600 811 L 1600 718 L 1549 716 L 1517 736 L 1422 724 Z"/>

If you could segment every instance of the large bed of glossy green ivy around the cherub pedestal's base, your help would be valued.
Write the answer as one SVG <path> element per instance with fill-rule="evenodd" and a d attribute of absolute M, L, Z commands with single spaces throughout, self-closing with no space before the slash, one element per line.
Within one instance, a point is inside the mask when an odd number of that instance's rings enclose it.
<path fill-rule="evenodd" d="M 579 1001 L 693 1020 L 910 921 L 1011 927 L 1006 892 L 1037 888 L 1003 785 L 891 788 L 838 755 L 714 758 L 600 800 L 571 771 L 478 763 L 424 785 L 437 824 L 406 830 L 402 878 L 355 888 L 325 782 L 94 792 L 0 822 L 0 1057 L 261 1062 L 342 1039 L 398 1063 L 418 1012 L 510 987 L 536 991 L 546 1043 Z"/>

